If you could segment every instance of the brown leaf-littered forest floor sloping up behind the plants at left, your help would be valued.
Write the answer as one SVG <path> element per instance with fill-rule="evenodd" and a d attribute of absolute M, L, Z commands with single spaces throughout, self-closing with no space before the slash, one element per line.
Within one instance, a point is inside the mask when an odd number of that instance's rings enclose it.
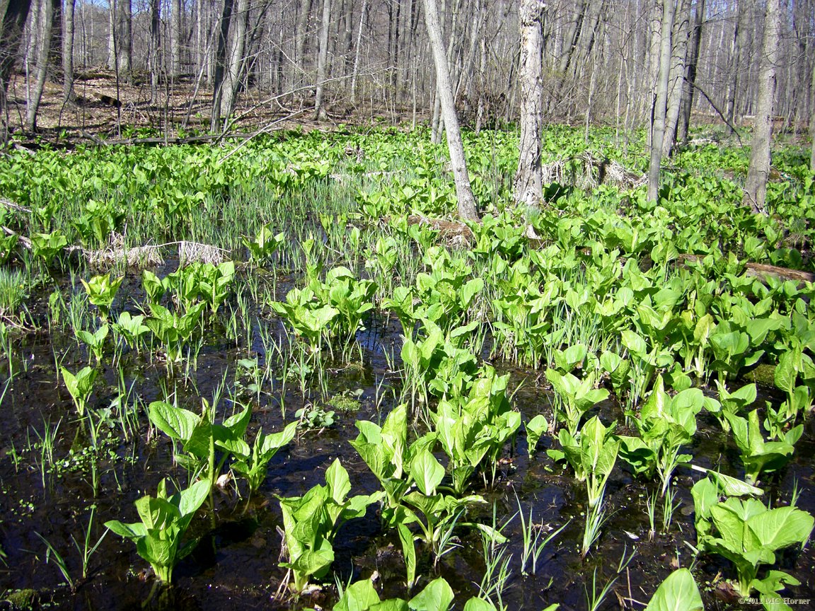
<path fill-rule="evenodd" d="M 74 91 L 76 99 L 66 103 L 62 84 L 46 82 L 42 103 L 37 113 L 37 138 L 52 144 L 66 145 L 97 139 L 121 140 L 155 137 L 190 138 L 209 132 L 212 93 L 205 87 L 196 90 L 195 80 L 185 78 L 173 86 L 162 86 L 152 99 L 150 82 L 136 77 L 118 81 L 109 70 L 89 69 L 78 73 Z M 9 86 L 9 124 L 18 142 L 33 142 L 24 134 L 26 114 L 26 81 L 23 74 L 13 77 Z M 376 108 L 371 104 L 351 106 L 341 95 L 329 99 L 328 116 L 315 121 L 313 98 L 309 90 L 297 95 L 273 96 L 258 90 L 240 95 L 234 118 L 227 133 L 255 130 L 304 131 L 331 130 L 341 124 L 397 124 L 412 119 L 403 109 Z M 426 117 L 417 117 L 423 120 Z"/>

